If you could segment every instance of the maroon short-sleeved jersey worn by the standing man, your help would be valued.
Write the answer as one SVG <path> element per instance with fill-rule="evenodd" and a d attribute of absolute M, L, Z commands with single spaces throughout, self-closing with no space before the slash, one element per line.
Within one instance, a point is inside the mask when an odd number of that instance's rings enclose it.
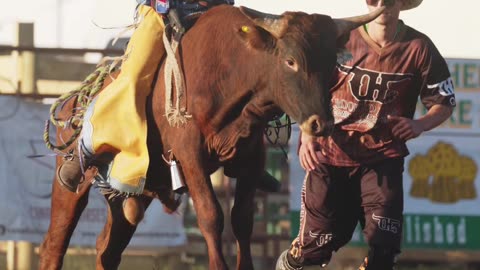
<path fill-rule="evenodd" d="M 426 108 L 455 106 L 448 66 L 432 41 L 406 25 L 396 39 L 381 48 L 363 27 L 351 32 L 346 49 L 353 58 L 339 63 L 331 88 L 334 132 L 318 139 L 323 163 L 357 166 L 404 157 L 405 142 L 393 138 L 387 115 L 413 118 L 418 97 Z"/>

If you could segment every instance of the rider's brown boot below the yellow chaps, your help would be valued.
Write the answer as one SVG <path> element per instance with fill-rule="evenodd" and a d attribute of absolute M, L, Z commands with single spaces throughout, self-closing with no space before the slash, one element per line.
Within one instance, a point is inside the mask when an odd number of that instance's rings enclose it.
<path fill-rule="evenodd" d="M 83 159 L 83 169 L 77 151 L 72 151 L 63 158 L 63 163 L 58 167 L 57 180 L 71 192 L 77 192 L 77 187 L 83 177 L 83 173 L 87 168 L 86 160 Z"/>

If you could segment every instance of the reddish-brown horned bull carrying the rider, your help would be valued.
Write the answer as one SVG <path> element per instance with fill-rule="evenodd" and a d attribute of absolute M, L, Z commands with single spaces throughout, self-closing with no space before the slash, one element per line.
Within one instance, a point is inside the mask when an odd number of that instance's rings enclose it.
<path fill-rule="evenodd" d="M 210 174 L 220 166 L 237 179 L 231 211 L 237 239 L 237 269 L 253 269 L 250 237 L 255 182 L 264 171 L 263 130 L 270 118 L 285 112 L 310 135 L 328 133 L 333 124 L 328 81 L 337 48 L 349 31 L 376 18 L 383 10 L 347 19 L 285 12 L 270 15 L 248 8 L 219 6 L 202 15 L 185 34 L 180 54 L 186 81 L 185 102 L 193 116 L 172 127 L 165 114 L 164 65 L 148 98 L 150 167 L 146 192 L 138 200 L 148 207 L 153 198 L 166 209 L 171 189 L 172 150 L 182 165 L 185 182 L 206 240 L 209 269 L 227 269 L 222 254 L 223 212 Z M 162 76 L 160 76 L 162 74 Z M 68 115 L 75 101 L 62 110 Z M 58 130 L 57 140 L 69 130 Z M 62 162 L 57 158 L 57 167 Z M 86 172 L 91 178 L 94 169 Z M 77 194 L 53 183 L 51 223 L 40 249 L 40 269 L 60 269 L 78 219 L 87 205 L 90 181 Z M 122 200 L 108 200 L 108 218 L 97 239 L 97 269 L 116 269 L 136 225 L 123 215 Z M 161 226 L 161 224 L 160 224 Z"/>

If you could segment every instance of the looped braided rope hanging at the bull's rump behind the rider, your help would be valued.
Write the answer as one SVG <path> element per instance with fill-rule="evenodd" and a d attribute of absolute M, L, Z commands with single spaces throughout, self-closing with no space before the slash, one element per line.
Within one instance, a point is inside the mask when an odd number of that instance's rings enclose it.
<path fill-rule="evenodd" d="M 94 72 L 87 76 L 77 89 L 63 94 L 52 104 L 50 107 L 50 119 L 45 122 L 45 129 L 43 132 L 43 140 L 48 149 L 55 152 L 61 152 L 75 142 L 82 131 L 83 116 L 88 105 L 93 100 L 93 97 L 102 89 L 105 78 L 110 74 L 113 68 L 112 66 L 114 65 L 115 64 L 98 66 Z M 78 106 L 73 108 L 72 115 L 67 120 L 60 120 L 60 118 L 57 117 L 57 109 L 59 107 L 60 109 L 63 108 L 65 103 L 74 97 L 77 98 Z M 70 136 L 68 141 L 63 144 L 55 145 L 50 141 L 50 123 L 63 129 L 72 128 L 74 133 Z"/>

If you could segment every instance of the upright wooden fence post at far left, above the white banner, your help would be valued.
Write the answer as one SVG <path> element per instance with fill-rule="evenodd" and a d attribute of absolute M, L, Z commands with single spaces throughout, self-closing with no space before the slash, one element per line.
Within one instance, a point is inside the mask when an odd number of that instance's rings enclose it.
<path fill-rule="evenodd" d="M 18 23 L 17 36 L 14 45 L 33 47 L 34 42 L 34 24 Z M 18 57 L 18 79 L 20 80 L 21 94 L 34 94 L 36 92 L 35 80 L 35 53 L 32 51 L 23 51 Z"/>

